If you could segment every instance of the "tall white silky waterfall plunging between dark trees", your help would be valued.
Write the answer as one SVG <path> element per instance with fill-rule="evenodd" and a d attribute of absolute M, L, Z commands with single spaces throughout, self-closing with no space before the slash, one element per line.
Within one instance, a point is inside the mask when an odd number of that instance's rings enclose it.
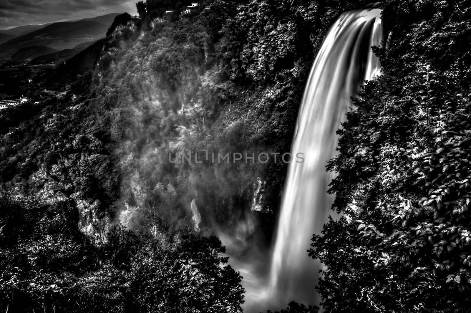
<path fill-rule="evenodd" d="M 288 167 L 269 273 L 272 303 L 318 304 L 314 286 L 321 264 L 306 250 L 312 234 L 320 234 L 333 203 L 326 191 L 335 174 L 327 173 L 325 165 L 335 156 L 336 131 L 351 106 L 350 96 L 380 74 L 379 59 L 371 49 L 383 40 L 380 13 L 379 8 L 343 13 L 312 66 L 292 143 L 292 155 L 302 152 L 305 161 Z"/>

